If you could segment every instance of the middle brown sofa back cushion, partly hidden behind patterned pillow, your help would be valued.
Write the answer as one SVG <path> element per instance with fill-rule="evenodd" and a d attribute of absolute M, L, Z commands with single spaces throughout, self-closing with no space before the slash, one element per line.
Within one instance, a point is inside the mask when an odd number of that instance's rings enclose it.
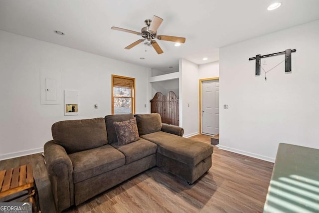
<path fill-rule="evenodd" d="M 105 124 L 108 134 L 108 142 L 112 144 L 114 142 L 118 142 L 118 137 L 116 135 L 116 131 L 113 125 L 114 121 L 127 121 L 134 118 L 134 115 L 131 114 L 121 114 L 121 115 L 107 115 L 105 116 Z"/>

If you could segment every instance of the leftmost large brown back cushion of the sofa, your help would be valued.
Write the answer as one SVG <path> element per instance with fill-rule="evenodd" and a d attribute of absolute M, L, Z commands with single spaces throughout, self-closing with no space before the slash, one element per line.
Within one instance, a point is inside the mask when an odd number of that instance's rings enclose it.
<path fill-rule="evenodd" d="M 68 154 L 108 143 L 103 118 L 56 122 L 52 125 L 52 137 Z"/>

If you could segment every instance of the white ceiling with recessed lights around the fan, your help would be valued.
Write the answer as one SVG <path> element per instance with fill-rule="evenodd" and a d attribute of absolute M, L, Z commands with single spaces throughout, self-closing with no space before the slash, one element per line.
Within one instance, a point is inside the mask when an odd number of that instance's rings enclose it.
<path fill-rule="evenodd" d="M 279 1 L 279 9 L 268 11 L 274 0 L 0 0 L 0 29 L 168 70 L 178 67 L 179 58 L 216 61 L 219 47 L 319 19 L 319 0 Z M 175 47 L 158 40 L 160 55 L 143 43 L 124 49 L 141 37 L 111 27 L 140 31 L 153 15 L 164 19 L 158 34 L 186 37 L 186 42 Z"/>

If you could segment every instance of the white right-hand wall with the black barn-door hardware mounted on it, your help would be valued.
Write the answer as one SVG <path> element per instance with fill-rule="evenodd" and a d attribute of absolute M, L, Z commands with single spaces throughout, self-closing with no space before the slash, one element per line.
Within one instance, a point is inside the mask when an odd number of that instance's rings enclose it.
<path fill-rule="evenodd" d="M 255 76 L 249 57 L 297 49 Z M 220 147 L 274 161 L 279 143 L 319 148 L 319 20 L 220 48 Z M 284 55 L 266 58 L 265 70 Z M 223 109 L 224 104 L 229 109 Z"/>

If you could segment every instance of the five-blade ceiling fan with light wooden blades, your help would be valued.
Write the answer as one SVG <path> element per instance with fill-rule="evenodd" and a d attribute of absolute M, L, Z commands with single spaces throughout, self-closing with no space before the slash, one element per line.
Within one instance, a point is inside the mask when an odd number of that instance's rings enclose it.
<path fill-rule="evenodd" d="M 162 18 L 154 15 L 153 19 L 146 19 L 144 22 L 147 26 L 143 27 L 141 29 L 141 32 L 137 32 L 137 31 L 133 31 L 133 30 L 129 30 L 129 29 L 123 29 L 120 27 L 116 27 L 116 26 L 112 26 L 111 29 L 115 29 L 115 30 L 119 30 L 119 31 L 123 31 L 123 32 L 130 32 L 133 34 L 137 34 L 137 35 L 142 35 L 142 39 L 139 39 L 133 43 L 131 43 L 130 45 L 128 45 L 127 47 L 125 47 L 125 49 L 131 49 L 132 47 L 135 47 L 136 45 L 138 45 L 139 43 L 148 40 L 150 41 L 150 43 L 152 44 L 152 46 L 154 47 L 155 51 L 158 54 L 163 53 L 163 50 L 160 48 L 160 45 L 154 40 L 155 38 L 159 39 L 159 40 L 164 40 L 164 41 L 172 41 L 172 42 L 178 42 L 178 43 L 185 43 L 186 38 L 183 37 L 176 37 L 176 36 L 169 36 L 169 35 L 157 35 L 157 30 L 160 27 L 161 22 L 163 21 Z"/>

